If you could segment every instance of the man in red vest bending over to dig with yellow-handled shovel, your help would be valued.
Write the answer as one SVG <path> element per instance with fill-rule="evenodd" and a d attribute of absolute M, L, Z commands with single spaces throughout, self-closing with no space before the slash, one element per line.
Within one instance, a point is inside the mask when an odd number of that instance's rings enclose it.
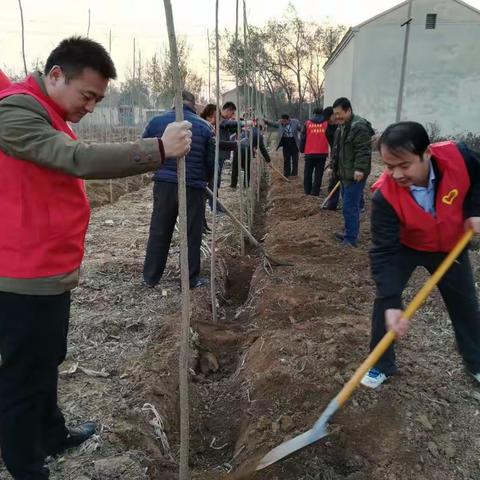
<path fill-rule="evenodd" d="M 464 144 L 430 144 L 422 125 L 400 122 L 379 140 L 386 170 L 372 199 L 370 262 L 377 293 L 370 347 L 386 328 L 403 335 L 402 293 L 416 267 L 434 272 L 466 228 L 480 233 L 480 157 Z M 468 252 L 438 284 L 467 371 L 480 382 L 480 313 Z M 397 372 L 391 346 L 362 384 Z"/>

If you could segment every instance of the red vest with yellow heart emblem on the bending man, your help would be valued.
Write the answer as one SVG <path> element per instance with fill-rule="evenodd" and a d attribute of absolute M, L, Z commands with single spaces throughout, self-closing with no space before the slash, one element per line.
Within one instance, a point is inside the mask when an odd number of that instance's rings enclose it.
<path fill-rule="evenodd" d="M 435 215 L 425 212 L 408 188 L 400 187 L 387 172 L 377 180 L 383 197 L 400 219 L 400 242 L 415 250 L 449 252 L 464 233 L 463 203 L 470 188 L 465 160 L 453 142 L 430 146 L 441 178 L 436 189 Z"/>

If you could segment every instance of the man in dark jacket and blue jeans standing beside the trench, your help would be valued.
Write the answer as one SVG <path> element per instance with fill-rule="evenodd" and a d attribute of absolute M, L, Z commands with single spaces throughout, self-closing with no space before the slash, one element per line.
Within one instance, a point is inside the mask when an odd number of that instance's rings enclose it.
<path fill-rule="evenodd" d="M 335 236 L 343 246 L 356 247 L 360 232 L 360 210 L 365 182 L 371 170 L 371 138 L 375 133 L 370 122 L 353 114 L 347 98 L 333 104 L 335 118 L 340 124 L 333 157 L 333 170 L 342 182 L 343 233 Z"/>

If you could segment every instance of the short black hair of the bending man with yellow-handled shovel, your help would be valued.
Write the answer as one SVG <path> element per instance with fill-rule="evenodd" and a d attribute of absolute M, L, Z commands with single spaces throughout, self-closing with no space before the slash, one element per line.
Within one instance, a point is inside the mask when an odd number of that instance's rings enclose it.
<path fill-rule="evenodd" d="M 378 140 L 378 149 L 384 146 L 393 155 L 406 151 L 421 157 L 429 145 L 430 138 L 425 127 L 417 122 L 389 125 Z"/>

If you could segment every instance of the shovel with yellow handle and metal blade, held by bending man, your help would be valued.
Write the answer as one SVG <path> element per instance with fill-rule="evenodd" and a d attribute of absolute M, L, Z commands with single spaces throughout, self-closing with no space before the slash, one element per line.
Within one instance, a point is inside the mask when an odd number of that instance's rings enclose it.
<path fill-rule="evenodd" d="M 457 259 L 460 253 L 464 250 L 468 242 L 471 240 L 473 230 L 467 230 L 462 238 L 455 245 L 453 250 L 445 257 L 443 262 L 439 265 L 435 273 L 428 279 L 423 285 L 420 291 L 415 295 L 415 298 L 408 305 L 407 309 L 403 313 L 403 317 L 411 319 L 414 313 L 420 308 L 423 302 L 426 300 L 430 292 L 434 289 L 437 283 L 441 280 L 445 272 L 452 266 L 453 262 Z M 350 398 L 355 388 L 358 386 L 363 376 L 372 368 L 385 353 L 387 348 L 395 340 L 395 333 L 389 331 L 385 334 L 382 340 L 372 350 L 366 360 L 358 367 L 357 371 L 353 374 L 353 377 L 345 384 L 340 393 L 330 401 L 325 411 L 320 418 L 315 422 L 313 427 L 305 433 L 298 435 L 295 438 L 283 442 L 278 447 L 268 452 L 257 464 L 255 470 L 262 470 L 275 462 L 278 462 L 282 458 L 290 455 L 297 450 L 300 450 L 307 445 L 310 445 L 321 438 L 328 435 L 327 424 L 333 415 L 339 410 L 345 402 Z"/>

